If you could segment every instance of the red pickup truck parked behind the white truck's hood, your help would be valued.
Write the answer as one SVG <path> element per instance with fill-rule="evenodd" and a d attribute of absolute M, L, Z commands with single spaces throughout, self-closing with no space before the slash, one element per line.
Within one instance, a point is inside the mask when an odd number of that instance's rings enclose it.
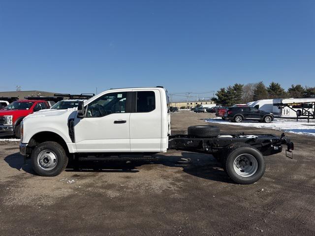
<path fill-rule="evenodd" d="M 0 110 L 0 137 L 20 138 L 20 124 L 26 116 L 50 108 L 44 100 L 17 100 Z"/>

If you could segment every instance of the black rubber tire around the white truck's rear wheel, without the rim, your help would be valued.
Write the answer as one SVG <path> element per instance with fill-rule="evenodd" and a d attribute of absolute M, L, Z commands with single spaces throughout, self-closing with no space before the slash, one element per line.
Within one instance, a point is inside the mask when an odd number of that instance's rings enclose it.
<path fill-rule="evenodd" d="M 264 175 L 266 168 L 265 159 L 261 152 L 256 148 L 253 148 L 251 145 L 244 143 L 235 143 L 227 147 L 224 153 L 224 171 L 236 183 L 252 184 L 258 181 Z M 251 176 L 241 176 L 234 170 L 234 161 L 238 156 L 242 154 L 249 154 L 256 161 L 256 164 L 252 164 L 252 162 L 250 162 L 251 166 L 257 165 L 256 171 Z"/>

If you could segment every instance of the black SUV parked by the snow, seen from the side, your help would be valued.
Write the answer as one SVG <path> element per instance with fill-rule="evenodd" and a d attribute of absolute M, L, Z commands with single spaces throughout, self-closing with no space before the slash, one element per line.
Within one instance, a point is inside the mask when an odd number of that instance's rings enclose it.
<path fill-rule="evenodd" d="M 270 123 L 274 120 L 274 115 L 269 112 L 260 111 L 254 107 L 230 107 L 225 115 L 225 119 L 234 122 L 242 122 L 243 120 L 257 120 Z"/>

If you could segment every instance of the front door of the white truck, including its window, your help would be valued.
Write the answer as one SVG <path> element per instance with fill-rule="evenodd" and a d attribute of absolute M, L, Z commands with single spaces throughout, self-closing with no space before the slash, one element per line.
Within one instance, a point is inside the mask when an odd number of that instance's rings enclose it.
<path fill-rule="evenodd" d="M 78 152 L 129 152 L 131 91 L 106 93 L 87 104 L 85 118 L 75 118 Z"/>

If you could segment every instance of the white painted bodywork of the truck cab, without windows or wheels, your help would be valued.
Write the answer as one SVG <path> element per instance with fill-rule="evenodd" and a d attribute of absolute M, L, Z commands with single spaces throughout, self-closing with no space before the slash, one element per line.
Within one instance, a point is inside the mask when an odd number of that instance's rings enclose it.
<path fill-rule="evenodd" d="M 77 117 L 77 109 L 47 110 L 24 118 L 22 143 L 28 144 L 40 132 L 53 132 L 65 141 L 69 152 L 161 152 L 168 148 L 170 114 L 163 88 L 110 89 L 84 102 L 114 92 L 154 91 L 155 109 L 151 112 L 112 113 L 103 117 Z M 75 142 L 71 141 L 68 120 L 74 119 Z M 114 123 L 124 120 L 124 123 Z"/>

